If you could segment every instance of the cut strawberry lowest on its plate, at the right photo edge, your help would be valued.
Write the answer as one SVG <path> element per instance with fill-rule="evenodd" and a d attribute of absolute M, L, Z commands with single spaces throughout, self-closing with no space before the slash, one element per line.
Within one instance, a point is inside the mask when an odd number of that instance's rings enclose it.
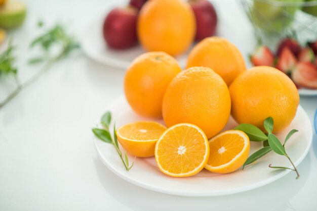
<path fill-rule="evenodd" d="M 310 62 L 299 62 L 292 72 L 295 84 L 317 89 L 317 68 Z"/>

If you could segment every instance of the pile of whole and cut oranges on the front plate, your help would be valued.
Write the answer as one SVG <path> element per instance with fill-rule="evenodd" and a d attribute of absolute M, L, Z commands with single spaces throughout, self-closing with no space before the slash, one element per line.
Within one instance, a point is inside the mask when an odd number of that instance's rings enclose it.
<path fill-rule="evenodd" d="M 224 38 L 197 43 L 186 68 L 182 71 L 166 52 L 147 52 L 133 61 L 124 79 L 131 108 L 153 121 L 119 128 L 118 140 L 135 156 L 154 155 L 167 175 L 239 169 L 250 140 L 239 130 L 221 132 L 230 114 L 237 123 L 259 128 L 272 117 L 274 132 L 295 117 L 299 95 L 289 77 L 267 66 L 246 70 L 241 52 Z M 167 128 L 155 122 L 160 118 Z"/>

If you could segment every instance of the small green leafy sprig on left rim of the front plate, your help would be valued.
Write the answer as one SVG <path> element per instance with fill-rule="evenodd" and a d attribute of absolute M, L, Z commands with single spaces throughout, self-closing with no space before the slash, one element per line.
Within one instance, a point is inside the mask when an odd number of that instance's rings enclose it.
<path fill-rule="evenodd" d="M 118 153 L 118 155 L 120 156 L 120 159 L 121 159 L 122 163 L 124 164 L 126 170 L 129 171 L 133 167 L 133 164 L 134 164 L 136 157 L 134 157 L 133 163 L 131 164 L 131 166 L 129 166 L 129 159 L 128 159 L 127 152 L 125 152 L 124 158 L 123 158 L 123 153 L 120 150 L 118 139 L 116 137 L 115 124 L 113 126 L 113 138 L 110 135 L 110 132 L 109 132 L 110 123 L 111 123 L 111 113 L 106 112 L 101 117 L 101 120 L 100 120 L 100 124 L 103 126 L 103 129 L 93 128 L 92 131 L 95 134 L 95 136 L 97 136 L 100 140 L 102 140 L 106 143 L 110 143 L 114 146 L 114 148 L 115 148 L 116 152 Z"/>

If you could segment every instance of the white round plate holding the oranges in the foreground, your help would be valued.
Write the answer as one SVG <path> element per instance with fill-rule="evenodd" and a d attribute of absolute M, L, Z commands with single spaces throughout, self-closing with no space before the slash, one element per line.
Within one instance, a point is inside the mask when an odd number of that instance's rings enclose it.
<path fill-rule="evenodd" d="M 112 103 L 108 111 L 111 111 L 112 120 L 115 121 L 117 127 L 138 120 L 149 120 L 136 115 L 124 97 Z M 156 121 L 163 123 L 162 120 Z M 226 129 L 235 125 L 236 123 L 230 118 Z M 278 137 L 284 139 L 291 129 L 297 129 L 299 132 L 295 133 L 287 142 L 286 151 L 297 166 L 308 153 L 312 141 L 312 127 L 301 106 L 298 107 L 296 117 L 291 125 L 277 134 Z M 290 170 L 270 169 L 268 168 L 269 164 L 291 167 L 286 157 L 269 152 L 257 161 L 256 165 L 250 165 L 245 170 L 239 169 L 230 174 L 215 174 L 204 169 L 191 177 L 173 178 L 161 173 L 156 166 L 154 157 L 137 158 L 133 168 L 127 172 L 111 144 L 97 138 L 94 138 L 94 143 L 101 161 L 117 176 L 143 188 L 174 195 L 216 196 L 243 192 L 266 185 L 290 172 Z M 250 153 L 260 147 L 261 143 L 252 142 Z M 131 162 L 133 159 L 134 157 L 129 156 Z M 305 172 L 300 173 L 305 174 Z M 296 174 L 294 172 L 292 174 L 295 180 Z"/>

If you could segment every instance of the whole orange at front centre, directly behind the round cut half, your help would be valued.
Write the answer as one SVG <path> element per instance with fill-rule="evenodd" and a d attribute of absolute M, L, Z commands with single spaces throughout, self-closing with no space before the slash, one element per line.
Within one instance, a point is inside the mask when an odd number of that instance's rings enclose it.
<path fill-rule="evenodd" d="M 190 123 L 208 138 L 219 133 L 230 116 L 230 94 L 223 79 L 206 67 L 192 67 L 179 73 L 167 87 L 163 118 L 168 127 Z"/>

